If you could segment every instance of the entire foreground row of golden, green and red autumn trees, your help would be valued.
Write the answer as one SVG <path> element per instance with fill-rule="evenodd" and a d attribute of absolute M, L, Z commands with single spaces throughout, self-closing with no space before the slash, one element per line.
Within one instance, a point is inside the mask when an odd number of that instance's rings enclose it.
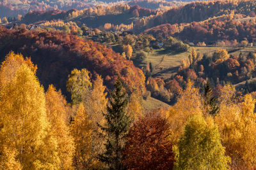
<path fill-rule="evenodd" d="M 1 169 L 255 167 L 255 100 L 232 85 L 213 100 L 188 81 L 168 111 L 143 113 L 121 81 L 108 99 L 100 76 L 74 69 L 68 104 L 52 85 L 44 92 L 36 69 L 15 53 L 1 64 Z"/>

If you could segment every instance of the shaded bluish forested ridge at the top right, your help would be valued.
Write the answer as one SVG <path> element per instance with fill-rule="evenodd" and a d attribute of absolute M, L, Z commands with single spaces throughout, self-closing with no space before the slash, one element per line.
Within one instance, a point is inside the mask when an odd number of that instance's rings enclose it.
<path fill-rule="evenodd" d="M 256 1 L 196 1 L 188 3 L 179 8 L 172 8 L 163 14 L 154 17 L 142 18 L 138 21 L 138 25 L 143 26 L 136 29 L 150 29 L 161 24 L 181 24 L 200 22 L 212 17 L 220 17 L 221 15 L 255 14 Z M 144 20 L 143 20 L 144 19 Z"/>

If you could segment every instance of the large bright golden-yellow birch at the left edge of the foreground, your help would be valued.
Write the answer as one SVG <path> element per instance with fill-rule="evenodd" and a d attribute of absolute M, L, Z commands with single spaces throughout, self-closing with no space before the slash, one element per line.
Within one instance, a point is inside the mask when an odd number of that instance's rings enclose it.
<path fill-rule="evenodd" d="M 1 148 L 15 150 L 23 169 L 58 169 L 57 141 L 47 120 L 44 89 L 35 73 L 22 64 L 1 88 L 0 96 Z"/>

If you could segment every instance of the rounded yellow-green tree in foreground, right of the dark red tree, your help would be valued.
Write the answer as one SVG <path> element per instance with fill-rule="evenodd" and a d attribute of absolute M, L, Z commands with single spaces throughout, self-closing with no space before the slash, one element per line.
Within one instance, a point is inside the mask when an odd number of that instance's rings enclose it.
<path fill-rule="evenodd" d="M 218 126 L 211 117 L 195 116 L 188 120 L 175 150 L 177 169 L 229 169 Z"/>

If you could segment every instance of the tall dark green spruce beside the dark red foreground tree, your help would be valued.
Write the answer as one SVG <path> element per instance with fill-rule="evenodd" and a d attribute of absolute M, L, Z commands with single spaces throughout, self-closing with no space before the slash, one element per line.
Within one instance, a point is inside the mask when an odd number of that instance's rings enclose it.
<path fill-rule="evenodd" d="M 99 155 L 102 162 L 108 164 L 109 169 L 124 169 L 122 165 L 125 138 L 131 125 L 131 118 L 127 114 L 128 97 L 120 80 L 115 83 L 115 91 L 111 94 L 106 118 L 106 125 L 100 128 L 106 132 L 106 152 Z"/>

